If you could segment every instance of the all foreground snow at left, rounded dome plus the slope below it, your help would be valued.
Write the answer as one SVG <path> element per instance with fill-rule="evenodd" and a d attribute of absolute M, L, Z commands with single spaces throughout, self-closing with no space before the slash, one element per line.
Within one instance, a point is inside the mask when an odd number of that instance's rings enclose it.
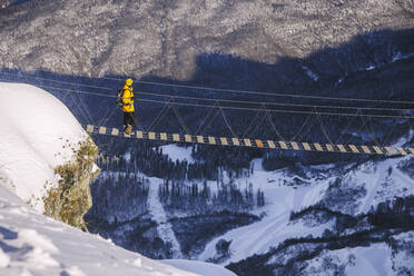
<path fill-rule="evenodd" d="M 151 260 L 42 215 L 43 197 L 59 185 L 53 169 L 87 135 L 39 88 L 1 82 L 0 105 L 0 275 L 234 275 L 201 262 Z"/>

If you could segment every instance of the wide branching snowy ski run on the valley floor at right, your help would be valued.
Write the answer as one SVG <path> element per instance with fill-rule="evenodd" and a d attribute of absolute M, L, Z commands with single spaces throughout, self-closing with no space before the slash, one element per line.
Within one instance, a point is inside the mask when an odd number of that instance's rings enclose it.
<path fill-rule="evenodd" d="M 259 160 L 256 160 L 255 172 L 248 181 L 255 184 L 255 189 L 260 188 L 265 191 L 267 205 L 258 211 L 266 211 L 267 216 L 258 223 L 236 228 L 213 239 L 207 244 L 204 253 L 198 256 L 198 259 L 214 258 L 215 246 L 219 239 L 231 240 L 231 255 L 224 263 L 227 265 L 254 254 L 265 254 L 270 247 L 277 247 L 288 238 L 306 237 L 307 235 L 321 237 L 325 229 L 333 228 L 333 220 L 325 224 L 306 220 L 289 221 L 290 211 L 299 211 L 321 200 L 329 203 L 332 210 L 357 215 L 365 214 L 372 206 L 375 208 L 379 203 L 396 196 L 413 195 L 414 179 L 401 169 L 402 164 L 407 161 L 411 161 L 411 157 L 368 161 L 349 169 L 344 175 L 338 174 L 332 166 L 308 168 L 309 174 L 305 179 L 308 184 L 294 187 L 280 185 L 284 180 L 287 183 L 292 180 L 292 176 L 285 170 L 264 171 Z M 341 179 L 338 190 L 345 194 L 333 195 L 333 191 L 328 191 L 329 185 L 336 179 Z M 355 188 L 365 191 L 359 195 L 355 193 L 353 196 Z M 388 254 L 387 257 L 391 258 L 391 255 Z M 382 275 L 382 273 L 371 275 Z"/>

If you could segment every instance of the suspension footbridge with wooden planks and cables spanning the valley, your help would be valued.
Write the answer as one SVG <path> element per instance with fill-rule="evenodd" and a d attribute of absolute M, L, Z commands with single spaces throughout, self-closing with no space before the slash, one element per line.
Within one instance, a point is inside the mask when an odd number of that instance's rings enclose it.
<path fill-rule="evenodd" d="M 12 81 L 10 77 L 16 77 L 16 73 L 10 72 L 0 72 L 0 75 L 9 76 L 9 78 L 0 78 L 0 81 Z M 233 147 L 252 147 L 252 148 L 264 148 L 264 149 L 283 149 L 283 150 L 305 150 L 305 151 L 316 151 L 316 152 L 339 152 L 339 154 L 364 154 L 364 155 L 383 155 L 383 156 L 395 156 L 395 155 L 414 155 L 414 148 L 411 147 L 397 147 L 397 146 L 385 146 L 387 139 L 390 139 L 392 131 L 394 130 L 396 124 L 390 129 L 385 135 L 385 141 L 379 144 L 376 140 L 375 131 L 373 129 L 372 118 L 386 118 L 386 119 L 402 119 L 408 124 L 410 130 L 412 130 L 411 119 L 414 119 L 412 114 L 414 112 L 414 102 L 413 101 L 398 101 L 398 100 L 378 100 L 378 99 L 357 99 L 357 98 L 338 98 L 338 97 L 323 97 L 323 96 L 308 96 L 308 95 L 290 95 L 290 93 L 268 93 L 268 92 L 257 92 L 257 91 L 239 91 L 231 89 L 215 89 L 215 88 L 205 88 L 196 86 L 183 86 L 183 85 L 170 85 L 170 83 L 159 83 L 152 81 L 140 81 L 138 83 L 146 85 L 157 85 L 166 86 L 174 88 L 189 88 L 198 90 L 210 90 L 216 92 L 234 92 L 234 93 L 246 93 L 246 95 L 256 95 L 265 97 L 288 97 L 295 99 L 307 99 L 307 100 L 321 100 L 321 101 L 345 101 L 345 102 L 365 102 L 372 105 L 387 103 L 387 107 L 355 107 L 355 106 L 338 106 L 336 105 L 309 105 L 309 103 L 292 103 L 292 102 L 275 102 L 275 101 L 248 101 L 248 100 L 235 100 L 235 99 L 214 99 L 208 97 L 196 97 L 196 96 L 181 96 L 181 95 L 171 95 L 171 93 L 159 93 L 159 92 L 148 92 L 139 90 L 137 92 L 138 102 L 152 102 L 160 103 L 162 108 L 159 110 L 158 115 L 154 118 L 151 124 L 147 129 L 145 129 L 138 121 L 136 122 L 138 130 L 134 131 L 131 135 L 126 135 L 118 128 L 105 126 L 109 118 L 115 115 L 116 108 L 112 110 L 107 110 L 105 116 L 100 118 L 98 124 L 95 124 L 92 116 L 90 115 L 88 107 L 79 98 L 79 95 L 90 95 L 97 97 L 106 98 L 116 98 L 115 95 L 106 95 L 102 92 L 95 91 L 85 91 L 78 87 L 89 88 L 89 89 L 99 89 L 116 91 L 108 87 L 92 86 L 86 83 L 77 83 L 73 81 L 62 81 L 55 79 L 41 78 L 38 76 L 23 75 L 17 76 L 19 80 L 23 77 L 24 81 L 28 83 L 34 81 L 41 81 L 41 83 L 36 83 L 39 87 L 45 89 L 53 89 L 53 91 L 63 91 L 65 98 L 70 97 L 75 102 L 76 107 L 80 111 L 80 115 L 83 117 L 87 125 L 82 125 L 86 131 L 90 135 L 107 135 L 112 137 L 124 137 L 129 139 L 148 139 L 148 140 L 159 140 L 165 142 L 187 142 L 187 144 L 200 144 L 200 145 L 211 145 L 211 146 L 233 146 Z M 117 78 L 102 78 L 108 80 L 121 79 Z M 29 81 L 32 80 L 32 81 Z M 45 85 L 43 82 L 48 81 L 50 83 Z M 70 88 L 61 88 L 60 86 L 70 86 Z M 73 97 L 72 97 L 73 95 Z M 149 96 L 152 98 L 145 98 L 142 96 Z M 161 99 L 159 99 L 161 98 Z M 180 101 L 177 101 L 180 100 Z M 186 101 L 183 101 L 186 100 Z M 398 105 L 397 108 L 390 107 L 392 105 Z M 410 106 L 410 108 L 401 108 L 400 106 Z M 191 130 L 186 125 L 184 118 L 179 114 L 177 106 L 187 106 L 187 107 L 203 107 L 209 108 L 209 111 L 206 114 L 201 125 L 197 130 L 191 134 Z M 274 107 L 278 107 L 277 109 Z M 280 109 L 282 107 L 282 109 Z M 154 131 L 156 127 L 161 122 L 162 118 L 172 111 L 177 118 L 180 128 L 184 130 L 180 134 L 178 132 L 157 132 Z M 224 110 L 241 110 L 241 111 L 255 111 L 256 116 L 252 119 L 249 126 L 245 129 L 241 136 L 238 136 L 231 125 L 229 118 L 227 118 Z M 341 110 L 341 111 L 333 111 Z M 345 111 L 342 111 L 345 110 Z M 381 111 L 381 114 L 378 114 Z M 272 114 L 282 112 L 282 114 L 298 114 L 306 115 L 304 124 L 300 126 L 298 131 L 290 138 L 286 139 L 277 130 L 276 125 L 273 121 Z M 225 122 L 225 126 L 231 134 L 231 137 L 215 137 L 215 136 L 205 136 L 204 131 L 206 128 L 215 120 L 217 116 L 220 116 Z M 341 134 L 339 138 L 335 141 L 329 137 L 326 126 L 323 120 L 323 116 L 342 116 L 351 117 L 345 131 Z M 313 117 L 312 124 L 308 124 L 309 118 Z M 373 145 L 353 145 L 348 142 L 339 144 L 343 135 L 346 132 L 348 127 L 356 121 L 356 119 L 362 119 L 361 129 L 362 131 L 365 128 L 373 140 Z M 262 139 L 253 138 L 258 131 L 259 127 L 267 121 L 270 126 L 270 129 L 277 136 L 275 139 Z M 312 130 L 315 124 L 319 125 L 321 131 L 327 142 L 306 142 L 306 141 L 296 141 L 299 137 L 305 137 L 307 132 Z"/>

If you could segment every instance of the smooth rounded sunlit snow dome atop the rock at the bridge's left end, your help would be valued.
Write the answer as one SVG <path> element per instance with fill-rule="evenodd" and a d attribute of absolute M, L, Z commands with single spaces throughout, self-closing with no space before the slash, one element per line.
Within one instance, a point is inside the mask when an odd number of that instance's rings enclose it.
<path fill-rule="evenodd" d="M 0 82 L 0 172 L 23 201 L 43 211 L 53 168 L 72 157 L 65 146 L 87 137 L 68 108 L 47 91 Z"/>

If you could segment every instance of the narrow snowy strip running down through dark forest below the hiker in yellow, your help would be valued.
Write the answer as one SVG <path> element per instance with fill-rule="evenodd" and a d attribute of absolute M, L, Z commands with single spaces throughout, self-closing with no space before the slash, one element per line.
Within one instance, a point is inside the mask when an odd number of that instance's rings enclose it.
<path fill-rule="evenodd" d="M 158 199 L 158 187 L 161 180 L 158 178 L 150 178 L 149 194 L 148 194 L 148 209 L 152 215 L 152 219 L 158 224 L 157 230 L 164 241 L 171 243 L 172 257 L 181 258 L 180 245 L 174 234 L 171 225 L 168 223 L 167 214 L 162 204 Z"/>

